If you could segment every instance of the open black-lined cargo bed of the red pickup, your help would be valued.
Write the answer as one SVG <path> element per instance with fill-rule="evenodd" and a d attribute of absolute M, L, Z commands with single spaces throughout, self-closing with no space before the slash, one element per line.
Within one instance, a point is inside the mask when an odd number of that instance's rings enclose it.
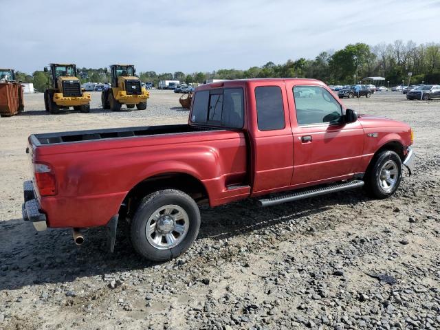
<path fill-rule="evenodd" d="M 61 144 L 90 140 L 104 140 L 118 137 L 136 137 L 146 135 L 162 135 L 189 133 L 196 131 L 218 131 L 212 127 L 190 126 L 188 124 L 124 127 L 118 129 L 95 129 L 87 131 L 43 133 L 31 135 L 34 145 Z"/>

